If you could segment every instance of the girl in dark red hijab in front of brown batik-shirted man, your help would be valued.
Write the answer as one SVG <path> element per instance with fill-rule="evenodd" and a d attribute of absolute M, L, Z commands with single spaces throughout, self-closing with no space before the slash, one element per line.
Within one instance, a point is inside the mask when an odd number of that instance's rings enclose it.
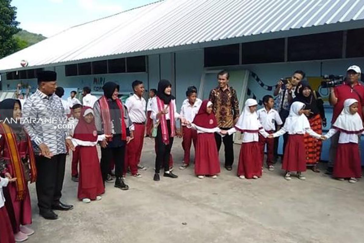
<path fill-rule="evenodd" d="M 199 179 L 211 176 L 216 179 L 220 173 L 219 154 L 215 142 L 214 133 L 220 133 L 217 121 L 212 112 L 211 101 L 204 100 L 193 119 L 187 127 L 197 130 L 197 142 L 195 152 L 195 174 Z"/>

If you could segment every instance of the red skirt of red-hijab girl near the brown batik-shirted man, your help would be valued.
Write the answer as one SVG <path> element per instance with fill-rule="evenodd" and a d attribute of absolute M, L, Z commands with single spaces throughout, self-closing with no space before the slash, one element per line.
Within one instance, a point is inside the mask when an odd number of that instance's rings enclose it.
<path fill-rule="evenodd" d="M 195 154 L 195 174 L 213 176 L 220 173 L 219 154 L 213 133 L 198 133 Z"/>

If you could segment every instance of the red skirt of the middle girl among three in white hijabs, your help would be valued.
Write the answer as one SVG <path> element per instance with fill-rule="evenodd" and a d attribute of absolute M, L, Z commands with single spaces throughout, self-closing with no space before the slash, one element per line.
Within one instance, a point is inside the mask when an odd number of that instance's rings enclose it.
<path fill-rule="evenodd" d="M 285 171 L 306 171 L 304 135 L 288 135 L 288 142 L 284 150 L 282 169 Z"/>

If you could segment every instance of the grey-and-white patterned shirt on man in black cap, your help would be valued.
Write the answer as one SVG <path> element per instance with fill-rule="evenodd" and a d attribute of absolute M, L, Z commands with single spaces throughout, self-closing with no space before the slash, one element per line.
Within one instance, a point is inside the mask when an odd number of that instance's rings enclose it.
<path fill-rule="evenodd" d="M 37 89 L 24 103 L 22 124 L 28 132 L 35 154 L 44 143 L 53 155 L 66 153 L 67 117 L 61 99 Z"/>

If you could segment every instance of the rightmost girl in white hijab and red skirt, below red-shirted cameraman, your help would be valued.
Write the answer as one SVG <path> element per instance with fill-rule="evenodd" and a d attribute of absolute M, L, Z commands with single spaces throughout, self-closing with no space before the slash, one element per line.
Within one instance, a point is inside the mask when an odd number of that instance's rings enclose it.
<path fill-rule="evenodd" d="M 361 177 L 358 135 L 363 133 L 364 128 L 358 109 L 356 99 L 346 99 L 344 109 L 325 135 L 325 138 L 329 138 L 340 132 L 333 176 L 339 180 L 347 178 L 350 183 L 356 183 L 357 178 Z"/>

